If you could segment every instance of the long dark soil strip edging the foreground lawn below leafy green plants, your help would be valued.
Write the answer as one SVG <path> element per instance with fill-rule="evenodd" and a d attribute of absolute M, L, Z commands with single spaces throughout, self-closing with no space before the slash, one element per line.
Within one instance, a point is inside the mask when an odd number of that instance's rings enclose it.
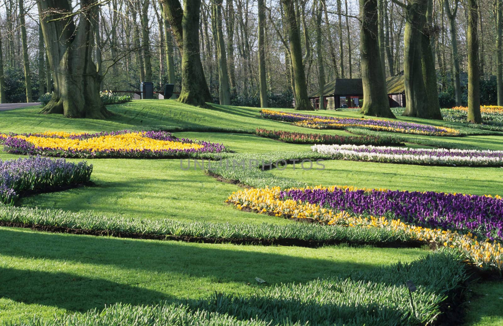
<path fill-rule="evenodd" d="M 30 228 L 36 231 L 51 233 L 86 234 L 96 236 L 114 236 L 130 239 L 153 239 L 153 240 L 176 240 L 184 242 L 198 243 L 232 243 L 233 245 L 261 245 L 261 246 L 297 246 L 306 248 L 319 248 L 323 246 L 348 245 L 354 247 L 372 246 L 377 248 L 420 248 L 425 246 L 423 241 L 393 241 L 393 242 L 366 242 L 366 241 L 342 241 L 342 240 L 303 240 L 296 238 L 216 238 L 191 235 L 171 235 L 171 234 L 142 234 L 132 232 L 107 231 L 107 230 L 86 230 L 69 228 L 63 226 L 24 224 L 0 221 L 0 226 Z"/>

